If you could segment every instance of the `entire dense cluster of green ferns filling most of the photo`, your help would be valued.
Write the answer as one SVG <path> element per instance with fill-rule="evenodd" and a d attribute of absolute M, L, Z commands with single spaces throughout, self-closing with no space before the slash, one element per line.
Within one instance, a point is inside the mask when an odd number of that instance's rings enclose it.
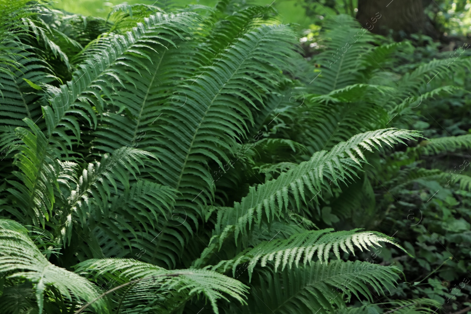
<path fill-rule="evenodd" d="M 365 33 L 332 64 L 359 30 L 339 16 L 319 69 L 272 8 L 229 1 L 1 10 L 3 313 L 363 313 L 347 306 L 397 284 L 398 267 L 354 258 L 404 250 L 390 236 L 317 225 L 366 210 L 367 192 L 346 198 L 371 189 L 370 159 L 421 136 L 392 127 L 408 93 L 468 59 L 395 80 L 380 64 L 399 45 Z"/>

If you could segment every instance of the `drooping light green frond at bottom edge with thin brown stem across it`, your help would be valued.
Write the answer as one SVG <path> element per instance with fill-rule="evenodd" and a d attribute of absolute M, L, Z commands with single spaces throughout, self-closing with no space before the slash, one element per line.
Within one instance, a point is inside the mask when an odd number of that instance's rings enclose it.
<path fill-rule="evenodd" d="M 158 267 L 152 264 L 139 262 L 133 259 L 89 259 L 76 266 L 76 272 L 93 274 L 96 281 L 116 282 L 136 282 L 132 288 L 127 289 L 125 295 L 120 296 L 123 303 L 118 306 L 122 311 L 128 313 L 128 310 L 138 312 L 146 310 L 162 310 L 162 300 L 169 297 L 169 290 L 174 290 L 177 295 L 171 294 L 171 298 L 185 299 L 192 298 L 200 293 L 210 301 L 211 307 L 215 313 L 219 313 L 216 300 L 223 298 L 228 300 L 223 293 L 244 303 L 244 293 L 247 292 L 246 286 L 237 280 L 224 276 L 222 274 L 203 269 L 183 269 L 172 270 Z M 161 299 L 155 304 L 156 308 L 149 306 L 137 306 L 137 303 L 151 302 L 148 299 Z M 170 302 L 174 300 L 170 299 Z M 147 302 L 146 302 L 147 303 Z M 152 304 L 152 302 L 151 302 Z M 121 306 L 121 307 L 120 307 Z M 168 304 L 167 307 L 180 304 Z M 166 309 L 167 311 L 170 308 Z"/>

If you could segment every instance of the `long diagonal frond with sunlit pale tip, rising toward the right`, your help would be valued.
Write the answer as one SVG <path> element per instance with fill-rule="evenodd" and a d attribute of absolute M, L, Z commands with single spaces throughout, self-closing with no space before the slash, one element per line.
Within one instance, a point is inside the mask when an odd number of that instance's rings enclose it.
<path fill-rule="evenodd" d="M 234 208 L 218 212 L 216 230 L 222 230 L 224 225 L 235 225 L 235 238 L 252 223 L 260 224 L 262 216 L 268 221 L 280 216 L 282 211 L 291 203 L 289 193 L 294 197 L 292 207 L 299 208 L 300 201 L 308 203 L 307 195 L 315 200 L 322 190 L 330 191 L 327 180 L 339 186 L 356 176 L 365 155 L 361 149 L 370 152 L 379 149 L 381 143 L 390 145 L 403 143 L 402 139 L 412 139 L 419 133 L 400 129 L 381 129 L 358 134 L 347 142 L 335 145 L 329 152 L 314 153 L 309 161 L 303 161 L 294 169 L 282 173 L 274 180 L 251 187 L 247 196 L 241 202 L 235 202 Z M 361 161 L 361 162 L 360 162 Z M 307 188 L 307 189 L 306 189 Z M 219 231 L 220 232 L 220 231 Z"/>

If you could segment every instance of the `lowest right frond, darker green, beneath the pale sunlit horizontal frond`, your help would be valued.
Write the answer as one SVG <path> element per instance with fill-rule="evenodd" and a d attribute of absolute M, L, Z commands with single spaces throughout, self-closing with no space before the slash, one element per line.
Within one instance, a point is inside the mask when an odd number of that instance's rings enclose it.
<path fill-rule="evenodd" d="M 345 307 L 344 298 L 363 296 L 373 301 L 371 290 L 376 293 L 389 291 L 398 279 L 398 273 L 396 267 L 360 261 L 316 262 L 279 273 L 260 271 L 252 281 L 253 292 L 243 311 L 327 314 L 327 311 Z"/>

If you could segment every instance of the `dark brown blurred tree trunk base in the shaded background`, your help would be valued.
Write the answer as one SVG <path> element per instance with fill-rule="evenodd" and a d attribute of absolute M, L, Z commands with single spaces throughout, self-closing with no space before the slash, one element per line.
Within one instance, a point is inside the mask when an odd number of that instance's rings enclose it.
<path fill-rule="evenodd" d="M 396 40 L 422 33 L 438 39 L 423 9 L 429 0 L 358 0 L 357 20 L 376 34 L 387 35 L 390 30 Z"/>

